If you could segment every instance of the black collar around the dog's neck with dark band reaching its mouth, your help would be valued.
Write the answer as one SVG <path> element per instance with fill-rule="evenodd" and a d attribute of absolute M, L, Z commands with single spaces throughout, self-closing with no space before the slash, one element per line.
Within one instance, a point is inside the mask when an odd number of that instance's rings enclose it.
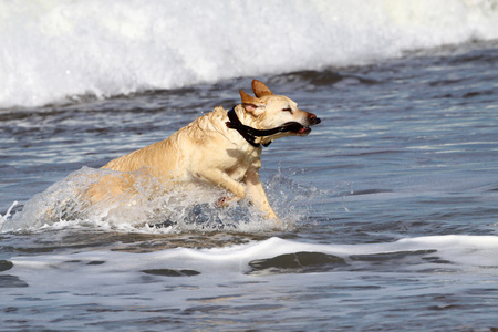
<path fill-rule="evenodd" d="M 302 126 L 299 123 L 293 122 L 266 131 L 255 129 L 253 127 L 246 126 L 240 122 L 239 117 L 237 116 L 237 113 L 235 112 L 235 107 L 228 111 L 228 118 L 230 121 L 226 122 L 227 127 L 239 132 L 239 134 L 253 147 L 260 146 L 259 143 L 255 142 L 257 137 L 271 136 L 278 133 L 287 133 L 292 131 L 295 132 L 302 128 Z M 267 147 L 268 145 L 271 144 L 271 142 L 272 141 L 263 144 L 263 146 Z"/>

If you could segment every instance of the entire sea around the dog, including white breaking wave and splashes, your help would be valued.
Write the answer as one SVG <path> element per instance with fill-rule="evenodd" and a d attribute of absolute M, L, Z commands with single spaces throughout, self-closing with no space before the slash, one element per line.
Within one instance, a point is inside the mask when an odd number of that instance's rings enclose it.
<path fill-rule="evenodd" d="M 497 1 L 0 2 L 2 331 L 496 331 Z M 252 79 L 322 123 L 222 195 L 79 204 Z M 82 176 L 83 175 L 83 176 Z"/>

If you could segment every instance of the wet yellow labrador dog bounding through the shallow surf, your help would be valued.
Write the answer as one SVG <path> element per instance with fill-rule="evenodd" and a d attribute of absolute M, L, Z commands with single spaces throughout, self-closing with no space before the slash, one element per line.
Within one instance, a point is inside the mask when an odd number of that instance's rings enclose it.
<path fill-rule="evenodd" d="M 248 197 L 264 217 L 278 220 L 259 179 L 262 146 L 280 137 L 307 136 L 320 118 L 259 81 L 252 81 L 252 91 L 256 97 L 239 91 L 242 102 L 230 111 L 216 107 L 168 138 L 110 162 L 103 168 L 124 174 L 101 178 L 86 198 L 96 204 L 129 193 L 138 174 L 163 188 L 196 181 L 218 186 L 229 193 L 219 206 Z"/>

